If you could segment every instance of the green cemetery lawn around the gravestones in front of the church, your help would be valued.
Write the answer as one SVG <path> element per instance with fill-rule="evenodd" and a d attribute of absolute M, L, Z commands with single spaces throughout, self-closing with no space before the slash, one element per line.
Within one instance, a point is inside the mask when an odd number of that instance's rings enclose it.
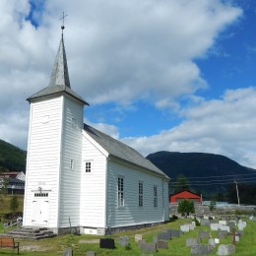
<path fill-rule="evenodd" d="M 236 244 L 236 253 L 234 255 L 244 256 L 244 255 L 256 255 L 256 222 L 250 220 L 244 220 L 247 222 L 246 227 L 244 228 L 243 235 L 240 237 L 240 241 Z M 96 251 L 96 255 L 142 255 L 141 249 L 134 240 L 134 234 L 141 233 L 143 234 L 143 239 L 146 239 L 148 242 L 153 242 L 154 236 L 160 233 L 163 229 L 180 229 L 180 224 L 187 224 L 188 220 L 177 220 L 175 222 L 170 222 L 168 224 L 160 224 L 148 228 L 125 231 L 115 233 L 109 236 L 101 237 L 111 237 L 115 239 L 114 250 L 111 249 L 100 249 L 96 239 L 99 239 L 100 236 L 96 235 L 73 235 L 67 234 L 63 236 L 58 236 L 54 238 L 47 238 L 41 240 L 25 240 L 25 239 L 15 239 L 20 242 L 20 255 L 23 256 L 56 256 L 63 255 L 64 248 L 71 247 L 73 249 L 73 255 L 86 255 L 87 251 Z M 185 246 L 186 238 L 195 238 L 199 230 L 208 230 L 210 227 L 207 226 L 196 226 L 194 230 L 190 230 L 187 233 L 183 233 L 180 237 L 173 237 L 168 241 L 168 249 L 159 249 L 157 253 L 149 253 L 152 255 L 159 256 L 186 256 L 190 254 L 190 248 Z M 129 236 L 130 241 L 130 250 L 125 249 L 124 246 L 118 244 L 119 236 Z M 217 231 L 211 231 L 213 238 L 217 237 Z M 89 240 L 92 243 L 87 243 Z M 203 240 L 202 243 L 207 243 L 207 240 Z M 232 236 L 227 236 L 224 239 L 221 239 L 221 244 L 231 244 Z M 215 248 L 214 253 L 208 255 L 217 255 L 217 247 Z M 17 250 L 15 249 L 3 249 L 0 248 L 0 255 L 17 255 Z"/>

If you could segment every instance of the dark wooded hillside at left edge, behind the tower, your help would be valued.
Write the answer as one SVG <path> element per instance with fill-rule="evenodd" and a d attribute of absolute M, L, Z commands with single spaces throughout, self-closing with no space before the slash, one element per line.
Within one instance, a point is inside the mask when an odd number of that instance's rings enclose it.
<path fill-rule="evenodd" d="M 25 171 L 27 152 L 0 140 L 0 169 Z"/>

